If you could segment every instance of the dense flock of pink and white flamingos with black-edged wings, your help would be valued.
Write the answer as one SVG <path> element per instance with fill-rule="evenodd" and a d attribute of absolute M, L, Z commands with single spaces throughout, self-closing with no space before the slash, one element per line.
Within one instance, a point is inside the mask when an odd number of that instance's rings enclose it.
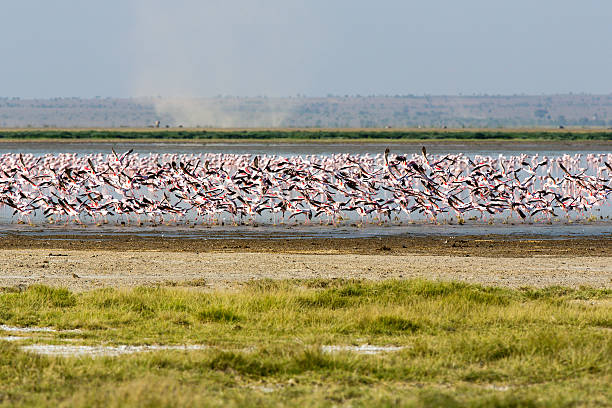
<path fill-rule="evenodd" d="M 586 216 L 610 205 L 612 154 L 0 156 L 0 208 L 33 222 L 382 222 Z"/>

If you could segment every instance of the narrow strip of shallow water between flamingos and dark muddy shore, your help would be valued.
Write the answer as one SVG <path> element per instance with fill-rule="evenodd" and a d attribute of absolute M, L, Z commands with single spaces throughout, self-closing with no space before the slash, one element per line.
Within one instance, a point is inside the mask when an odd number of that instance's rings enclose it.
<path fill-rule="evenodd" d="M 610 222 L 554 222 L 549 224 L 530 223 L 467 223 L 431 224 L 423 222 L 404 224 L 345 224 L 340 226 L 321 224 L 283 224 L 283 225 L 44 225 L 9 224 L 0 229 L 0 236 L 10 234 L 45 235 L 49 237 L 64 235 L 87 235 L 117 237 L 138 235 L 142 237 L 168 237 L 185 239 L 303 239 L 303 238 L 371 238 L 382 236 L 406 235 L 414 237 L 427 236 L 468 236 L 468 235 L 505 235 L 505 236 L 540 236 L 542 238 L 571 238 L 586 236 L 612 236 Z"/>

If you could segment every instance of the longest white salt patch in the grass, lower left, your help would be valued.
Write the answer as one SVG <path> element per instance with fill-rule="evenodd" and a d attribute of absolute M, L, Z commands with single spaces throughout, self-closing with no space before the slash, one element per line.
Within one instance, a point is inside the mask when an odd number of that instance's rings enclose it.
<path fill-rule="evenodd" d="M 25 351 L 29 351 L 37 354 L 44 354 L 48 356 L 92 356 L 92 357 L 104 357 L 104 356 L 120 356 L 123 354 L 134 354 L 144 353 L 148 351 L 160 351 L 160 350 L 179 350 L 179 351 L 190 351 L 190 350 L 203 350 L 207 348 L 205 345 L 180 345 L 180 346 L 69 346 L 69 345 L 55 345 L 55 344 L 33 344 L 23 347 Z"/>

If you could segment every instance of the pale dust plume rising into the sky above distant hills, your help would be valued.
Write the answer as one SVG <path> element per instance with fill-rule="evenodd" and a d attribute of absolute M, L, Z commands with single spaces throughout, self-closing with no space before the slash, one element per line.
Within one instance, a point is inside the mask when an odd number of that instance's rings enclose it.
<path fill-rule="evenodd" d="M 274 97 L 305 81 L 303 55 L 291 53 L 319 39 L 293 28 L 298 9 L 276 3 L 135 1 L 132 95 L 169 125 L 282 126 L 291 108 Z"/>

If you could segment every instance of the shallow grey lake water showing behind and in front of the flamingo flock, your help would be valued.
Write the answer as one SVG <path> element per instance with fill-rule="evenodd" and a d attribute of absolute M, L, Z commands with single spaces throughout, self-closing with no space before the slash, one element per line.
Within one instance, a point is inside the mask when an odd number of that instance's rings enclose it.
<path fill-rule="evenodd" d="M 58 153 L 77 153 L 79 155 L 91 153 L 111 152 L 115 149 L 118 153 L 134 149 L 139 154 L 253 154 L 253 155 L 282 155 L 282 156 L 328 156 L 338 153 L 370 154 L 381 153 L 389 147 L 393 153 L 413 154 L 419 153 L 421 146 L 426 146 L 431 154 L 457 154 L 466 156 L 513 156 L 513 155 L 538 155 L 540 157 L 559 157 L 565 154 L 612 154 L 612 143 L 607 142 L 439 142 L 423 141 L 419 143 L 380 143 L 380 142 L 83 142 L 83 141 L 27 141 L 27 142 L 2 142 L 0 143 L 0 154 L 23 153 L 35 156 Z M 287 238 L 311 238 L 311 237 L 372 237 L 381 235 L 474 235 L 474 234 L 500 234 L 500 235 L 541 235 L 545 237 L 556 236 L 587 236 L 587 235 L 609 235 L 612 234 L 612 221 L 610 221 L 612 210 L 608 203 L 597 209 L 595 217 L 591 222 L 585 220 L 573 220 L 559 217 L 551 221 L 524 222 L 520 219 L 499 219 L 493 224 L 487 222 L 466 222 L 458 225 L 452 218 L 440 220 L 439 224 L 425 222 L 422 219 L 403 220 L 401 223 L 389 221 L 384 225 L 368 223 L 361 225 L 357 219 L 349 219 L 340 225 L 326 225 L 315 222 L 309 225 L 298 223 L 276 224 L 272 219 L 257 219 L 247 222 L 246 225 L 235 225 L 229 219 L 221 217 L 216 225 L 198 223 L 172 222 L 152 225 L 136 222 L 122 224 L 113 220 L 108 224 L 86 226 L 74 223 L 37 225 L 17 224 L 12 218 L 11 211 L 5 209 L 0 214 L 0 234 L 22 233 L 34 235 L 61 235 L 61 234 L 137 234 L 142 236 L 168 236 L 184 238 L 258 238 L 268 237 L 277 239 Z M 455 221 L 455 222 L 453 222 Z M 577 222 L 576 222 L 577 221 Z M 223 225 L 221 225 L 223 224 Z"/>

